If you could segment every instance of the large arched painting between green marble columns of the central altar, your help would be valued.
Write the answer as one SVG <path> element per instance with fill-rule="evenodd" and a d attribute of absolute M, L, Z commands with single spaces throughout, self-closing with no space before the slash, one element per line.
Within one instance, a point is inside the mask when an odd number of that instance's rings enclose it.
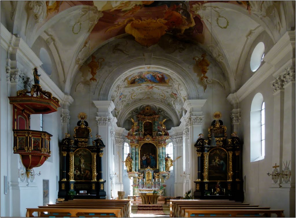
<path fill-rule="evenodd" d="M 146 169 L 148 166 L 152 169 L 157 168 L 157 147 L 153 143 L 141 145 L 139 154 L 140 169 Z"/>

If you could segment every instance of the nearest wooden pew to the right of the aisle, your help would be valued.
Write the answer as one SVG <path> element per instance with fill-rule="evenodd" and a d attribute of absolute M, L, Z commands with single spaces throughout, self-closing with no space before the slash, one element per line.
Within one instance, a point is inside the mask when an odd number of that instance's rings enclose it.
<path fill-rule="evenodd" d="M 185 217 L 198 217 L 199 215 L 202 215 L 202 217 L 213 217 L 213 215 L 216 215 L 218 217 L 246 217 L 246 216 L 258 217 L 257 214 L 262 214 L 261 217 L 271 217 L 271 214 L 276 214 L 277 217 L 284 217 L 284 210 L 258 210 L 258 209 L 256 210 L 246 210 L 246 209 L 239 209 L 239 210 L 189 209 L 187 210 L 186 209 L 185 210 Z"/>

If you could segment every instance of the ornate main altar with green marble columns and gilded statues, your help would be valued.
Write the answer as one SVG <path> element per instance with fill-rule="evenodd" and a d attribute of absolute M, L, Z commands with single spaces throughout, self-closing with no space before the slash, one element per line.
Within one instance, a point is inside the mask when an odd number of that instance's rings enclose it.
<path fill-rule="evenodd" d="M 125 161 L 128 176 L 133 179 L 133 195 L 151 192 L 163 195 L 165 180 L 170 177 L 165 152 L 169 134 L 163 124 L 166 119 L 160 119 L 149 105 L 141 109 L 136 119 L 132 119 L 133 126 L 126 136 L 131 141 L 131 166 Z"/>

